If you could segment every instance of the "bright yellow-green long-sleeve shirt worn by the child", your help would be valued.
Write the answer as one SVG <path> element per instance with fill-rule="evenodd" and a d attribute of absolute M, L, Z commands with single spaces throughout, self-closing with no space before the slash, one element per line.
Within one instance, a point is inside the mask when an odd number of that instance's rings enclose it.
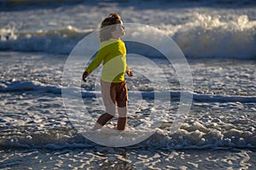
<path fill-rule="evenodd" d="M 102 81 L 123 82 L 125 80 L 125 71 L 129 68 L 126 64 L 125 42 L 116 39 L 102 42 L 96 58 L 92 60 L 85 71 L 90 74 L 102 61 Z"/>

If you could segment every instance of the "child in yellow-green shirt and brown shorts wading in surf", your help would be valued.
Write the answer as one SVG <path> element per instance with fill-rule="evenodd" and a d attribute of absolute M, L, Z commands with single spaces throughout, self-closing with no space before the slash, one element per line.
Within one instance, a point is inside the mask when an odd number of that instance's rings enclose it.
<path fill-rule="evenodd" d="M 94 130 L 104 126 L 115 115 L 118 106 L 117 130 L 125 130 L 127 119 L 128 92 L 125 82 L 125 72 L 132 77 L 129 66 L 126 65 L 125 42 L 120 40 L 125 34 L 125 27 L 119 14 L 109 14 L 102 21 L 100 40 L 101 45 L 96 58 L 85 69 L 83 80 L 90 75 L 103 61 L 101 86 L 102 99 L 106 113 L 100 116 Z M 116 105 L 115 105 L 116 104 Z"/>

